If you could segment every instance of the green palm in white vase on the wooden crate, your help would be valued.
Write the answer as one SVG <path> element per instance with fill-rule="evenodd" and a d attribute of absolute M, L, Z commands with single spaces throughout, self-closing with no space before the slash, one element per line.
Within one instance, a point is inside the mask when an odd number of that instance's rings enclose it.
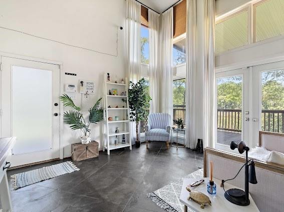
<path fill-rule="evenodd" d="M 63 120 L 65 124 L 70 124 L 70 128 L 72 130 L 80 129 L 83 132 L 83 136 L 81 137 L 81 142 L 83 144 L 88 144 L 91 142 L 90 134 L 90 124 L 100 122 L 104 120 L 104 109 L 100 107 L 102 97 L 98 99 L 93 107 L 89 109 L 89 120 L 83 116 L 82 109 L 76 106 L 73 100 L 67 95 L 64 94 L 60 97 L 60 101 L 64 103 L 65 107 L 72 107 L 74 110 L 69 110 L 64 112 Z"/>

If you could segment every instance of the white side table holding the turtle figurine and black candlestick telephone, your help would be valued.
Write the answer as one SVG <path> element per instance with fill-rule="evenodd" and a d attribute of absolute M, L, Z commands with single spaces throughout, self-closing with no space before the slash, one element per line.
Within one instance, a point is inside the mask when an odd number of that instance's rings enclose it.
<path fill-rule="evenodd" d="M 193 178 L 193 179 L 185 179 L 183 180 L 183 184 L 182 184 L 182 188 L 181 188 L 181 193 L 180 193 L 180 201 L 184 204 L 184 211 L 187 212 L 187 207 L 190 207 L 191 209 L 195 210 L 195 211 L 203 211 L 203 212 L 207 212 L 207 211 L 214 211 L 214 212 L 227 212 L 227 211 L 242 211 L 242 212 L 257 212 L 259 211 L 256 204 L 254 203 L 253 199 L 251 198 L 250 194 L 249 194 L 249 200 L 250 200 L 250 204 L 247 206 L 240 206 L 240 205 L 236 205 L 233 204 L 231 202 L 229 202 L 225 196 L 224 196 L 224 190 L 222 187 L 220 187 L 221 184 L 221 180 L 219 179 L 215 179 L 214 183 L 216 184 L 217 190 L 216 190 L 216 194 L 212 195 L 209 194 L 207 192 L 207 183 L 209 182 L 209 178 L 205 177 L 203 178 L 205 181 L 196 186 L 196 187 L 190 187 L 191 190 L 196 190 L 196 191 L 200 191 L 204 194 L 206 194 L 207 196 L 209 196 L 212 205 L 205 205 L 204 209 L 200 208 L 200 204 L 198 204 L 197 202 L 193 201 L 192 199 L 187 200 L 188 196 L 189 196 L 189 192 L 186 190 L 186 186 L 192 184 L 193 182 L 196 182 L 197 178 Z M 233 186 L 231 184 L 225 183 L 224 184 L 224 188 L 225 190 L 230 189 L 230 188 L 238 188 L 236 186 Z"/>

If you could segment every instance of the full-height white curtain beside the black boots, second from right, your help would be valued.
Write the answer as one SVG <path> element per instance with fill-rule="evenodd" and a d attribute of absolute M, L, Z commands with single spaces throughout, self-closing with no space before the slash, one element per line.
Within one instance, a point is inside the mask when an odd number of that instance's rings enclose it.
<path fill-rule="evenodd" d="M 187 0 L 186 3 L 186 146 L 195 148 L 195 29 L 196 29 L 196 0 Z"/>

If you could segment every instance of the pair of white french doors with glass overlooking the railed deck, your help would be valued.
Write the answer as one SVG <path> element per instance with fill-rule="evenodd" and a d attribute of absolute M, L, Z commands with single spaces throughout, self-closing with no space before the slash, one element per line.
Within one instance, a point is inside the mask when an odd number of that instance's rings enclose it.
<path fill-rule="evenodd" d="M 253 148 L 260 130 L 284 133 L 284 61 L 215 76 L 215 148 L 232 151 L 232 140 Z"/>

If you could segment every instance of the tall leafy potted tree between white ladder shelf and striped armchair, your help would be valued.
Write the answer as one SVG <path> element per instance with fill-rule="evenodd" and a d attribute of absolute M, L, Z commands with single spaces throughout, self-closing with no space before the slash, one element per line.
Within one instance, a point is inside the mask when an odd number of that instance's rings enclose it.
<path fill-rule="evenodd" d="M 128 102 L 130 109 L 130 121 L 136 122 L 136 141 L 135 146 L 138 148 L 140 146 L 139 141 L 139 122 L 145 121 L 148 116 L 147 109 L 150 106 L 151 97 L 147 92 L 148 86 L 144 78 L 139 80 L 137 83 L 130 81 L 130 86 L 128 89 Z"/>

